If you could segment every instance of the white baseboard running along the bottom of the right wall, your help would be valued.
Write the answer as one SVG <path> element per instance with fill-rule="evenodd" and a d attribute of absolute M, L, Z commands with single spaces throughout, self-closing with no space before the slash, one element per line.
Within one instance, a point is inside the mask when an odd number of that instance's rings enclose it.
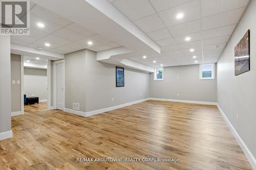
<path fill-rule="evenodd" d="M 227 126 L 229 127 L 229 129 L 231 130 L 232 134 L 234 135 L 234 137 L 237 139 L 240 147 L 242 148 L 245 156 L 247 157 L 247 159 L 249 160 L 252 168 L 254 170 L 256 170 L 256 160 L 253 157 L 253 155 L 251 154 L 250 150 L 247 148 L 247 146 L 245 145 L 244 141 L 242 140 L 242 138 L 239 136 L 239 134 L 237 133 L 236 129 L 234 129 L 234 127 L 232 126 L 232 124 L 229 122 L 227 116 L 225 115 L 225 113 L 223 112 L 223 110 L 221 109 L 221 107 L 219 106 L 219 104 L 217 104 L 218 109 L 221 112 L 222 117 L 224 118 Z"/>

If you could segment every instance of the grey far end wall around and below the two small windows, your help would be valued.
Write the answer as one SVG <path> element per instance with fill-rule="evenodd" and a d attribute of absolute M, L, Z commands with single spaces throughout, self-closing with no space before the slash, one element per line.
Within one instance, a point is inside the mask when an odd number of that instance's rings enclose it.
<path fill-rule="evenodd" d="M 199 80 L 199 65 L 164 67 L 163 74 L 163 81 L 150 74 L 151 98 L 216 102 L 217 81 Z"/>

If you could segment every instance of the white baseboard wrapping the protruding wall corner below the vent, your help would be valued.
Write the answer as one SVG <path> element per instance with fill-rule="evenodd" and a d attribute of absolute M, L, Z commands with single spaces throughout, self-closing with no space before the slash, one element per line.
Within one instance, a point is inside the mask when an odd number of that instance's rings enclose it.
<path fill-rule="evenodd" d="M 146 99 L 142 99 L 142 100 L 138 100 L 138 101 L 134 101 L 134 102 L 130 102 L 130 103 L 125 103 L 125 104 L 112 106 L 112 107 L 108 107 L 108 108 L 103 108 L 103 109 L 99 109 L 99 110 L 94 110 L 94 111 L 89 111 L 89 112 L 82 112 L 82 111 L 68 109 L 68 108 L 65 108 L 64 111 L 68 112 L 68 113 L 73 113 L 73 114 L 77 114 L 77 115 L 80 115 L 80 116 L 88 117 L 88 116 L 92 116 L 92 115 L 95 115 L 95 114 L 104 113 L 104 112 L 108 112 L 108 111 L 111 111 L 111 110 L 119 109 L 119 108 L 122 108 L 122 107 L 125 107 L 125 106 L 130 106 L 130 105 L 134 105 L 134 104 L 137 104 L 137 103 L 145 102 L 145 101 L 148 101 L 148 100 L 149 100 L 149 98 L 146 98 Z"/>

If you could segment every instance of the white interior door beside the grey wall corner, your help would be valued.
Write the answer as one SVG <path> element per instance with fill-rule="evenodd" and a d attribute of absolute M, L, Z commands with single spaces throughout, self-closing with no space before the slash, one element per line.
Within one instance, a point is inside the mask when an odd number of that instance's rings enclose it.
<path fill-rule="evenodd" d="M 56 64 L 56 108 L 64 110 L 64 63 Z"/>

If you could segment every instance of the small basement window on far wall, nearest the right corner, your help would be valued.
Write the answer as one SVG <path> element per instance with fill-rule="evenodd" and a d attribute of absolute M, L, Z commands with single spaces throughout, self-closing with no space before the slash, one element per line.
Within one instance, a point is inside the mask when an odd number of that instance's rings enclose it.
<path fill-rule="evenodd" d="M 200 80 L 215 79 L 215 63 L 200 64 Z"/>

